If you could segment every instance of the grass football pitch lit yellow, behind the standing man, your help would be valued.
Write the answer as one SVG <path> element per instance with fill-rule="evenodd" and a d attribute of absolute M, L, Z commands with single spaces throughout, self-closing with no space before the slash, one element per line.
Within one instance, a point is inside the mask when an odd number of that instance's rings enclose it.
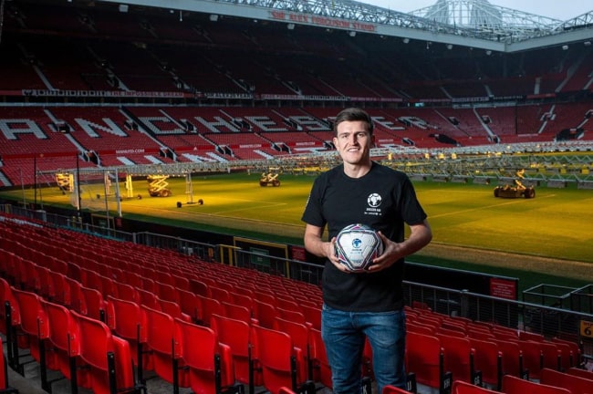
<path fill-rule="evenodd" d="M 169 223 L 180 229 L 302 244 L 304 223 L 300 217 L 313 180 L 311 175 L 283 174 L 279 187 L 261 187 L 257 173 L 194 175 L 191 195 L 185 178 L 169 178 L 170 197 L 151 197 L 147 181 L 138 180 L 133 182 L 130 193 L 134 197 L 121 199 L 120 206 L 113 195 L 114 185 L 111 185 L 112 193 L 105 198 L 102 182 L 81 182 L 81 205 L 96 213 L 106 213 L 109 207 L 111 216 L 120 209 L 124 218 Z M 477 264 L 484 256 L 508 255 L 511 261 L 506 264 L 507 271 L 503 269 L 503 275 L 514 275 L 515 269 L 548 271 L 524 265 L 532 257 L 541 257 L 556 262 L 552 265 L 557 269 L 548 272 L 550 280 L 562 275 L 593 282 L 593 269 L 588 266 L 593 264 L 593 191 L 539 187 L 534 199 L 500 199 L 494 197 L 493 185 L 417 181 L 414 186 L 429 215 L 432 245 L 473 251 Z M 120 194 L 125 192 L 120 182 Z M 31 188 L 0 191 L 0 197 L 8 196 L 33 201 L 35 192 Z M 37 205 L 72 207 L 73 195 L 63 194 L 57 187 L 47 187 L 36 191 L 35 201 Z M 436 251 L 435 254 L 440 254 L 439 249 Z M 432 262 L 435 257 L 447 258 L 441 255 L 417 258 Z M 472 262 L 468 264 L 458 267 L 469 269 Z M 582 264 L 587 265 L 585 272 L 590 270 L 590 277 L 571 275 L 572 267 Z"/>

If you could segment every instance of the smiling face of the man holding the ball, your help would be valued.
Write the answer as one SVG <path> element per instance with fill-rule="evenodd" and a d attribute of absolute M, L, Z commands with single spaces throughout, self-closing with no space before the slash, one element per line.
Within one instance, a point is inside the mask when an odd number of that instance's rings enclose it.
<path fill-rule="evenodd" d="M 375 140 L 369 134 L 367 123 L 361 120 L 343 121 L 338 124 L 334 145 L 342 160 L 349 164 L 367 164 L 370 148 Z"/>

